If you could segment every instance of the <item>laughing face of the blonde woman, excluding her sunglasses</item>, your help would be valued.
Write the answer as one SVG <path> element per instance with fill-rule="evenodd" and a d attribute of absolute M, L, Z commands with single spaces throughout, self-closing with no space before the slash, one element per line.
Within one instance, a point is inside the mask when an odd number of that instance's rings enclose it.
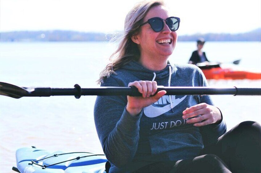
<path fill-rule="evenodd" d="M 170 16 L 164 6 L 155 6 L 151 8 L 144 17 L 143 23 L 153 17 L 166 19 Z M 143 56 L 168 58 L 176 46 L 177 33 L 171 31 L 164 21 L 164 28 L 160 32 L 153 31 L 150 24 L 143 25 L 138 38 L 140 42 L 141 58 Z M 169 40 L 170 43 L 163 43 Z"/>

